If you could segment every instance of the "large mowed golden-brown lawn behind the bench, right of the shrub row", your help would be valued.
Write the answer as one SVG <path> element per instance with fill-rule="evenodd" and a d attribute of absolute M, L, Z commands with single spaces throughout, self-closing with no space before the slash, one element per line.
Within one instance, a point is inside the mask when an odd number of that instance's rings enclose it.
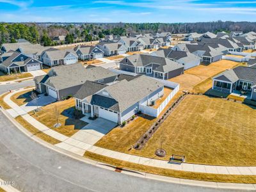
<path fill-rule="evenodd" d="M 180 154 L 188 163 L 255 166 L 255 115 L 256 110 L 244 104 L 188 95 L 145 147 L 133 152 L 154 157 L 163 142 L 165 160 Z"/>

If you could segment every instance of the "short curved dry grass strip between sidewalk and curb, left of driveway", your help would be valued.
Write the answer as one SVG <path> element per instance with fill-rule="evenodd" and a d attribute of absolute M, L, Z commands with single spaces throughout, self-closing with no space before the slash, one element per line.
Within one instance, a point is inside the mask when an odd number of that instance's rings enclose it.
<path fill-rule="evenodd" d="M 55 138 L 52 138 L 51 136 L 45 134 L 42 131 L 39 131 L 36 129 L 33 125 L 29 124 L 22 116 L 17 116 L 15 120 L 22 125 L 25 129 L 27 129 L 29 132 L 31 132 L 36 137 L 40 138 L 41 140 L 46 141 L 47 143 L 51 143 L 52 145 L 56 145 L 57 143 L 60 143 L 61 141 L 56 140 Z"/>

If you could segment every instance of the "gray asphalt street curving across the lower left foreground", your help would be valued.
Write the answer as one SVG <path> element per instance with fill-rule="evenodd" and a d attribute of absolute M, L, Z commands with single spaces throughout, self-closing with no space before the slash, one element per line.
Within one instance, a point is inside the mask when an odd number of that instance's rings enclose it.
<path fill-rule="evenodd" d="M 1 111 L 0 122 L 0 179 L 13 180 L 20 191 L 224 191 L 143 179 L 82 163 L 31 140 Z"/>

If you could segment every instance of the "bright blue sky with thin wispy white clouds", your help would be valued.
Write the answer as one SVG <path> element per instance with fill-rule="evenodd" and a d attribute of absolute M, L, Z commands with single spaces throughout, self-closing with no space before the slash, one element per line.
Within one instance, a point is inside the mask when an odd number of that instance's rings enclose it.
<path fill-rule="evenodd" d="M 256 21 L 256 1 L 0 0 L 3 22 Z"/>

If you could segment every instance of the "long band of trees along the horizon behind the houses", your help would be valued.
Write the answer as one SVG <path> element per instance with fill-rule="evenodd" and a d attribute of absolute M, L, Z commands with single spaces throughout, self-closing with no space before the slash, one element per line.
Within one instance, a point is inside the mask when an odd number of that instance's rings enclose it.
<path fill-rule="evenodd" d="M 44 46 L 91 42 L 106 35 L 139 33 L 205 33 L 210 31 L 256 31 L 256 22 L 195 22 L 195 23 L 95 23 L 95 24 L 47 24 L 47 23 L 0 23 L 0 44 L 13 43 L 24 38 L 33 44 Z M 54 36 L 66 36 L 63 42 L 54 42 Z"/>

